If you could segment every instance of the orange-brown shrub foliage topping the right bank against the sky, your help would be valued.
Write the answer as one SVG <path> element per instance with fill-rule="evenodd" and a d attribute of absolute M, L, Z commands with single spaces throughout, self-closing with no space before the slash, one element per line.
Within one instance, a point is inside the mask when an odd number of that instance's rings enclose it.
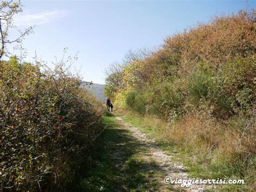
<path fill-rule="evenodd" d="M 165 39 L 166 49 L 180 53 L 183 72 L 195 63 L 208 61 L 218 67 L 237 56 L 255 52 L 255 10 L 240 10 L 237 15 L 213 17 L 208 23 Z"/>

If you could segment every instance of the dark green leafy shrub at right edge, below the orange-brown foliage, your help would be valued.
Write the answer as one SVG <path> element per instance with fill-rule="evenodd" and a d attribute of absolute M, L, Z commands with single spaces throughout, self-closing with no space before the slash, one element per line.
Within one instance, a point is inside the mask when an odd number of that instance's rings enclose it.
<path fill-rule="evenodd" d="M 255 54 L 250 57 L 237 57 L 227 61 L 220 68 L 223 81 L 223 90 L 234 98 L 233 109 L 248 116 L 253 115 L 253 104 L 256 95 L 256 65 Z"/>

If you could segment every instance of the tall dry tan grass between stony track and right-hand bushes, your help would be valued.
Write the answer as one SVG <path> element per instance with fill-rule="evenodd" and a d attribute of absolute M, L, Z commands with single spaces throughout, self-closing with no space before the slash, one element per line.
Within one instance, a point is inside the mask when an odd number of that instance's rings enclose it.
<path fill-rule="evenodd" d="M 220 122 L 204 113 L 189 114 L 168 124 L 152 115 L 134 115 L 121 109 L 117 112 L 132 116 L 136 126 L 143 127 L 167 150 L 171 146 L 178 149 L 185 155 L 183 161 L 190 161 L 194 176 L 245 179 L 243 187 L 254 188 L 255 122 L 251 130 L 241 131 L 244 125 L 236 119 Z"/>

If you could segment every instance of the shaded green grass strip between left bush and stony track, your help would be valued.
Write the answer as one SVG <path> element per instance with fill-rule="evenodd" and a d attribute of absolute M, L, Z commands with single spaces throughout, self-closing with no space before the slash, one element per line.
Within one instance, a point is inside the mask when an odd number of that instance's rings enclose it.
<path fill-rule="evenodd" d="M 111 113 L 103 116 L 101 124 L 107 127 L 87 156 L 81 154 L 84 164 L 68 190 L 156 190 L 159 183 L 152 179 L 154 172 L 146 169 L 149 165 L 139 156 L 144 146 Z"/>

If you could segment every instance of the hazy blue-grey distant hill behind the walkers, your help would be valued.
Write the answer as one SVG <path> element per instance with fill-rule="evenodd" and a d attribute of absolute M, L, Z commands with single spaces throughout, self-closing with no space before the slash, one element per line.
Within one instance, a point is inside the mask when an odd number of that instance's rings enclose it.
<path fill-rule="evenodd" d="M 85 87 L 89 92 L 92 92 L 98 100 L 105 102 L 105 99 L 106 99 L 104 97 L 105 85 L 95 84 L 95 83 L 91 84 L 90 82 L 82 81 L 80 83 L 80 86 Z"/>

